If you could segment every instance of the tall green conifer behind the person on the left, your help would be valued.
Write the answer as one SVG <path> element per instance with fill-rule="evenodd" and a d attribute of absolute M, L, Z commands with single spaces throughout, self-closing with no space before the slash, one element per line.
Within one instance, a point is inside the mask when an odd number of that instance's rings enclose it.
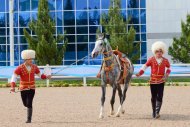
<path fill-rule="evenodd" d="M 66 51 L 67 39 L 63 35 L 54 36 L 55 22 L 49 15 L 48 1 L 39 0 L 38 16 L 36 21 L 29 23 L 29 29 L 36 36 L 31 36 L 26 29 L 24 35 L 29 48 L 36 51 L 36 60 L 38 65 L 60 65 Z M 58 43 L 64 44 L 58 45 Z"/>

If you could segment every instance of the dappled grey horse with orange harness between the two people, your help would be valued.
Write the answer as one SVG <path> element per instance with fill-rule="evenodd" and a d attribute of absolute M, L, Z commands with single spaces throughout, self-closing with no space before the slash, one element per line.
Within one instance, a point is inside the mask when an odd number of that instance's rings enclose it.
<path fill-rule="evenodd" d="M 110 100 L 111 104 L 111 111 L 110 115 L 115 115 L 114 112 L 114 102 L 115 102 L 115 94 L 116 90 L 118 90 L 118 95 L 120 98 L 120 105 L 118 107 L 116 117 L 120 117 L 120 114 L 124 114 L 125 110 L 123 110 L 123 103 L 126 98 L 126 92 L 129 87 L 129 83 L 131 81 L 134 67 L 132 62 L 127 58 L 126 55 L 122 53 L 122 58 L 125 59 L 128 63 L 127 70 L 122 70 L 121 64 L 118 60 L 118 55 L 115 55 L 107 38 L 105 35 L 100 34 L 95 42 L 95 47 L 91 52 L 91 57 L 95 58 L 99 54 L 103 54 L 103 62 L 100 70 L 100 78 L 101 78 L 101 89 L 102 89 L 102 96 L 101 96 L 101 108 L 99 118 L 104 118 L 103 110 L 104 110 L 104 102 L 105 102 L 105 95 L 106 95 L 106 85 L 109 83 L 112 88 L 112 97 Z M 125 71 L 125 72 L 123 72 Z M 121 74 L 126 73 L 126 77 L 123 80 L 123 90 L 120 85 Z"/>

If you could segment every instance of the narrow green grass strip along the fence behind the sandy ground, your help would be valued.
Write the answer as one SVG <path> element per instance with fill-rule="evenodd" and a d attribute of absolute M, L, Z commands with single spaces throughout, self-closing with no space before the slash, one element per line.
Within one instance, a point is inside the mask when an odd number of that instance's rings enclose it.
<path fill-rule="evenodd" d="M 149 79 L 132 79 L 131 86 L 148 86 Z M 17 85 L 19 83 L 17 82 Z M 87 79 L 87 86 L 100 86 L 100 79 Z M 37 80 L 36 87 L 46 87 L 45 80 Z M 190 86 L 190 78 L 169 78 L 166 86 Z M 50 80 L 49 87 L 81 87 L 83 86 L 83 80 Z M 0 81 L 0 88 L 10 87 L 7 81 Z"/>

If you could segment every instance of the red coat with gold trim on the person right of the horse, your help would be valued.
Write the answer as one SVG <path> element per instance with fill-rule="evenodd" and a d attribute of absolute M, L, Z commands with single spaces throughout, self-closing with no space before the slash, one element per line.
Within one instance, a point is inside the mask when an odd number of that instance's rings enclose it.
<path fill-rule="evenodd" d="M 165 73 L 170 73 L 170 63 L 168 59 L 162 57 L 163 60 L 160 64 L 156 61 L 155 57 L 151 57 L 148 59 L 148 61 L 145 63 L 147 67 L 151 67 L 151 76 L 150 76 L 150 84 L 160 84 L 165 82 L 164 75 Z M 165 71 L 165 68 L 168 68 Z M 143 70 L 140 71 L 140 75 L 144 73 Z"/>

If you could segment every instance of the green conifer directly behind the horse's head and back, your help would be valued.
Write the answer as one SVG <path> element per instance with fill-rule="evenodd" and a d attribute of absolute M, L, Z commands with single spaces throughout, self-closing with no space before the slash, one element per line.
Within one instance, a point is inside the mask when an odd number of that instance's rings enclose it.
<path fill-rule="evenodd" d="M 110 36 L 108 40 L 112 49 L 118 47 L 119 51 L 126 54 L 135 63 L 140 57 L 140 45 L 134 43 L 136 31 L 133 27 L 127 29 L 129 19 L 124 21 L 121 15 L 120 0 L 112 0 L 112 5 L 108 14 L 101 16 L 100 23 Z"/>

